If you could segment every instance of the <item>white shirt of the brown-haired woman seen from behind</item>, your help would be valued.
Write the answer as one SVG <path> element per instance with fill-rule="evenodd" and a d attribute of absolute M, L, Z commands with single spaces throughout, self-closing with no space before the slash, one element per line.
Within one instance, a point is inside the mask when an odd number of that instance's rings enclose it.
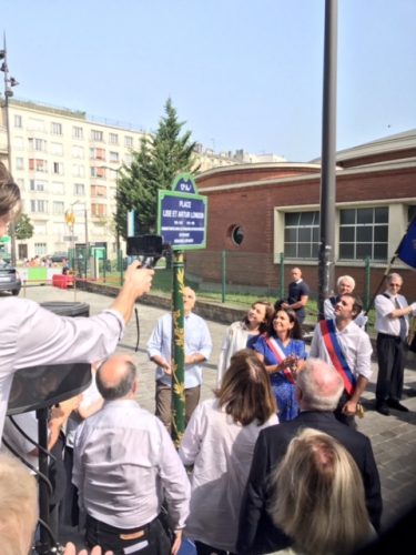
<path fill-rule="evenodd" d="M 194 464 L 186 537 L 235 552 L 254 445 L 261 430 L 277 423 L 274 414 L 263 426 L 257 422 L 235 424 L 223 408 L 219 410 L 216 398 L 196 407 L 179 451 L 184 464 Z"/>

